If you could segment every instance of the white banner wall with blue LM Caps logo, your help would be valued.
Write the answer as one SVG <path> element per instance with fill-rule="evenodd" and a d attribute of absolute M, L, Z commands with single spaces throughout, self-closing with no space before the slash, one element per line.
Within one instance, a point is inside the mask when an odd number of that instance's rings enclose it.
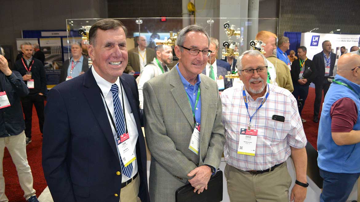
<path fill-rule="evenodd" d="M 345 34 L 324 34 L 314 32 L 301 33 L 301 46 L 307 49 L 306 56 L 312 60 L 315 54 L 323 51 L 322 43 L 325 40 L 331 42 L 332 52 L 339 53 L 340 47 L 345 46 L 346 52 L 350 52 L 352 46 L 358 46 L 360 35 L 345 35 Z"/>

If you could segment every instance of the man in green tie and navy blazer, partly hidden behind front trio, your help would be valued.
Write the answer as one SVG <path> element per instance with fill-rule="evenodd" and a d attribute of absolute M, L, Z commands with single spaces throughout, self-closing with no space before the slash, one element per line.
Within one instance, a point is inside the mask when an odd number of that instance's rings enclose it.
<path fill-rule="evenodd" d="M 213 79 L 216 82 L 220 82 L 217 80 L 222 79 L 222 81 L 224 82 L 224 88 L 221 88 L 221 84 L 217 83 L 217 85 L 219 86 L 219 91 L 223 91 L 224 89 L 233 86 L 231 81 L 228 81 L 228 79 L 225 78 L 225 75 L 228 74 L 228 71 L 231 71 L 231 67 L 229 63 L 216 59 L 217 51 L 219 50 L 219 41 L 216 38 L 210 38 L 210 40 L 211 42 L 209 50 L 211 50 L 212 52 L 210 54 L 210 57 L 207 59 L 207 64 L 203 69 L 202 73 L 207 75 L 208 77 L 211 77 L 211 71 L 213 71 Z"/>

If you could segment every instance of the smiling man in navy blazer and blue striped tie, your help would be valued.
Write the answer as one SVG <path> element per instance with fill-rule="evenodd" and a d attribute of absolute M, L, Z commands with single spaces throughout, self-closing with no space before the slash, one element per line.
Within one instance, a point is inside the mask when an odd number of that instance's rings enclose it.
<path fill-rule="evenodd" d="M 93 66 L 48 94 L 42 167 L 51 196 L 55 202 L 136 202 L 138 197 L 150 202 L 138 88 L 134 77 L 123 74 L 126 28 L 118 20 L 99 20 L 89 41 Z M 118 145 L 122 129 L 126 133 Z M 120 155 L 125 141 L 136 157 L 132 162 L 124 158 L 128 153 Z"/>

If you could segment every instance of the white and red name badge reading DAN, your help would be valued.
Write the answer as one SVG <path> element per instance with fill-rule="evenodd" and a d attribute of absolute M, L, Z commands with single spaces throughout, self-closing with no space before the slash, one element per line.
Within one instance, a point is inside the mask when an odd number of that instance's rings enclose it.
<path fill-rule="evenodd" d="M 132 161 L 135 161 L 134 148 L 132 148 L 129 141 L 129 133 L 124 133 L 120 138 L 116 138 L 117 148 L 120 152 L 120 157 L 125 167 L 130 165 Z"/>

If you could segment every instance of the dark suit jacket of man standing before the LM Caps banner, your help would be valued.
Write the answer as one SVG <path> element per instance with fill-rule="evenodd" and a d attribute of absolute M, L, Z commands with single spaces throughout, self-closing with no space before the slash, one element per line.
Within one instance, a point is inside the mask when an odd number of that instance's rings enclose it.
<path fill-rule="evenodd" d="M 330 52 L 330 72 L 329 76 L 333 75 L 334 65 L 336 60 L 336 54 L 333 52 Z M 314 55 L 312 58 L 312 62 L 314 62 L 316 67 L 316 72 L 318 76 L 316 79 L 314 79 L 312 82 L 318 83 L 324 81 L 324 75 L 325 75 L 325 62 L 324 62 L 324 54 L 323 51 L 319 52 L 318 54 Z"/>

